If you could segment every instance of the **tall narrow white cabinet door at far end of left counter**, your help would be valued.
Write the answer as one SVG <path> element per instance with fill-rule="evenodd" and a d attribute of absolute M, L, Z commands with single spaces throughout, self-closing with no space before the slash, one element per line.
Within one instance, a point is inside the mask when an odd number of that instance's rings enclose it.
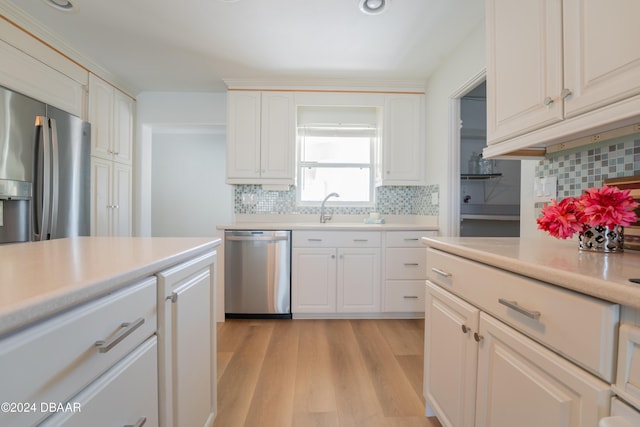
<path fill-rule="evenodd" d="M 160 425 L 212 426 L 216 414 L 216 253 L 158 274 Z"/>

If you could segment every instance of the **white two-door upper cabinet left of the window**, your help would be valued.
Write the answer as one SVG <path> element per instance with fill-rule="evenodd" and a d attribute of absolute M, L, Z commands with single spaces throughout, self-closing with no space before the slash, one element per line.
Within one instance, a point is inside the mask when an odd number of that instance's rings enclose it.
<path fill-rule="evenodd" d="M 293 93 L 230 91 L 227 183 L 293 184 Z"/>

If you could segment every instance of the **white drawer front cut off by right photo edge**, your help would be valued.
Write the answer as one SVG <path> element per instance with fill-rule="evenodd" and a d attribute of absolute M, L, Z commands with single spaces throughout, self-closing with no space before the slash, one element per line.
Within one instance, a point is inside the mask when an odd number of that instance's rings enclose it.
<path fill-rule="evenodd" d="M 618 372 L 614 389 L 617 394 L 640 408 L 640 327 L 620 326 Z"/>

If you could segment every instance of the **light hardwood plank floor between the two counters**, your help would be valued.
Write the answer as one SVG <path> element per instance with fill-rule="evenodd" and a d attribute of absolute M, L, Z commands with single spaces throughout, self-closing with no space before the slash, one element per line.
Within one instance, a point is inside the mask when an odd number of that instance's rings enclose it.
<path fill-rule="evenodd" d="M 219 323 L 215 427 L 439 427 L 424 416 L 423 324 Z"/>

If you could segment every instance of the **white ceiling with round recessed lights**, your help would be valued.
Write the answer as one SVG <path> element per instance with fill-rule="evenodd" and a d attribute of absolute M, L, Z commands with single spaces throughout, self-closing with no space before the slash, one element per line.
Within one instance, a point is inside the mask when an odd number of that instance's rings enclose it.
<path fill-rule="evenodd" d="M 8 0 L 134 91 L 224 91 L 224 79 L 426 81 L 484 0 Z"/>

